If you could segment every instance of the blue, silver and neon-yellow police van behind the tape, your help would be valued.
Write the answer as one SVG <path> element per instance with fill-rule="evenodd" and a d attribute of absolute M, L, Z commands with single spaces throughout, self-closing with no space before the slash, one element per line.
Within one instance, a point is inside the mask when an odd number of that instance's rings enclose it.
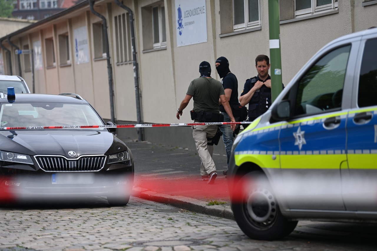
<path fill-rule="evenodd" d="M 377 222 L 377 28 L 317 52 L 234 141 L 231 207 L 253 239 L 301 219 Z"/>

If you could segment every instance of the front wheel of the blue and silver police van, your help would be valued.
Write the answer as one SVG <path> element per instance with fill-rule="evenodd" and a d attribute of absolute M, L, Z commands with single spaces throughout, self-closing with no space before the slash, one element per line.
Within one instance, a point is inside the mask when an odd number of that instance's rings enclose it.
<path fill-rule="evenodd" d="M 276 196 L 267 177 L 253 171 L 240 179 L 236 191 L 241 191 L 240 201 L 231 203 L 234 219 L 251 239 L 276 240 L 290 234 L 297 221 L 290 221 L 280 212 Z"/>

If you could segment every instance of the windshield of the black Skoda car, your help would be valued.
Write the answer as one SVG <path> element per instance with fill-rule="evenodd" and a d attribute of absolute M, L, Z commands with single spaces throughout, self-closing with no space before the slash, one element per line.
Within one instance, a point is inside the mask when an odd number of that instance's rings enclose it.
<path fill-rule="evenodd" d="M 2 127 L 95 126 L 104 124 L 89 104 L 55 102 L 5 103 L 2 104 L 0 109 L 0 120 Z"/>

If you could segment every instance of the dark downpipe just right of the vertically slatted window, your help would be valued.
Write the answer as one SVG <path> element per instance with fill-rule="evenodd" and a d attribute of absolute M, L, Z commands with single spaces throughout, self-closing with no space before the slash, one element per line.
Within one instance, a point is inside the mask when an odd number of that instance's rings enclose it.
<path fill-rule="evenodd" d="M 138 68 L 138 61 L 136 58 L 136 42 L 135 42 L 135 28 L 133 24 L 133 12 L 130 8 L 128 8 L 123 3 L 119 2 L 119 0 L 114 0 L 115 3 L 120 6 L 121 8 L 125 9 L 130 18 L 130 33 L 131 33 L 131 46 L 132 46 L 132 64 L 133 64 L 133 78 L 135 80 L 135 98 L 136 98 L 136 114 L 137 114 L 137 123 L 143 124 L 141 121 L 141 103 L 140 103 L 140 90 L 139 90 L 139 68 Z M 143 128 L 137 128 L 138 132 L 138 140 L 143 141 Z"/>

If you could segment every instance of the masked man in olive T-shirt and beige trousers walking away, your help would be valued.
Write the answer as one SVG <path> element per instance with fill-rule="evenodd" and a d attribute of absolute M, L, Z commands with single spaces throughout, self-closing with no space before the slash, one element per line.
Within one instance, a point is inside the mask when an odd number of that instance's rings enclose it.
<path fill-rule="evenodd" d="M 225 98 L 224 88 L 218 80 L 211 78 L 211 66 L 207 61 L 199 65 L 200 77 L 194 79 L 187 90 L 185 98 L 182 100 L 178 110 L 177 118 L 182 116 L 183 109 L 189 104 L 190 99 L 194 99 L 194 108 L 190 112 L 194 122 L 222 122 L 224 116 L 220 113 L 219 98 L 230 121 L 234 120 L 231 108 Z M 231 125 L 234 130 L 235 125 Z M 215 162 L 212 159 L 213 144 L 208 144 L 208 139 L 213 138 L 218 130 L 217 125 L 192 126 L 193 138 L 196 150 L 202 161 L 200 173 L 202 180 L 208 180 L 207 184 L 213 184 L 217 177 Z"/>

